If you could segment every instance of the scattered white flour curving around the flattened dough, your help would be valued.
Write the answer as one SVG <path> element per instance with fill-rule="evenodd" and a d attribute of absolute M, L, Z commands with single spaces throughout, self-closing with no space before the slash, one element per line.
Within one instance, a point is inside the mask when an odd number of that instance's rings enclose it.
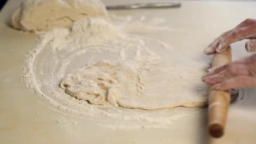
<path fill-rule="evenodd" d="M 54 111 L 73 118 L 97 121 L 99 125 L 108 125 L 110 129 L 115 129 L 116 125 L 126 124 L 129 126 L 120 128 L 168 128 L 172 124 L 171 121 L 175 121 L 174 117 L 185 116 L 186 112 L 198 113 L 200 108 L 145 112 L 139 109 L 114 108 L 112 105 L 91 105 L 87 101 L 80 101 L 67 95 L 65 90 L 59 88 L 65 75 L 84 66 L 85 63 L 104 59 L 135 59 L 142 56 L 161 58 L 161 53 L 173 51 L 168 43 L 131 34 L 138 32 L 136 23 L 140 23 L 138 27 L 143 26 L 140 21 L 131 23 L 134 21 L 132 19 L 133 17 L 129 16 L 117 17 L 108 22 L 100 18 L 87 18 L 75 22 L 71 28 L 52 29 L 44 33 L 39 36 L 35 49 L 25 58 L 23 82 L 39 96 L 48 100 L 54 106 Z M 143 18 L 145 19 L 147 18 Z M 135 27 L 134 30 L 131 27 Z M 150 26 L 149 23 L 145 23 L 145 29 L 151 32 L 164 30 L 162 26 Z M 157 46 L 156 51 L 152 50 L 152 44 Z M 185 114 L 177 109 L 183 109 Z"/>

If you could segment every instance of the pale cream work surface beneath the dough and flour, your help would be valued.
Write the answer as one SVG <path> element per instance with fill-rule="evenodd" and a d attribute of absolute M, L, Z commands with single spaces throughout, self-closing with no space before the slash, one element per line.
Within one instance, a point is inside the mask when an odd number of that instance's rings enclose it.
<path fill-rule="evenodd" d="M 241 89 L 230 105 L 226 133 L 213 140 L 207 133 L 207 111 L 172 121 L 171 127 L 133 130 L 111 130 L 98 121 L 76 118 L 39 98 L 20 82 L 24 56 L 33 49 L 36 34 L 10 28 L 10 16 L 22 0 L 9 0 L 0 12 L 0 143 L 1 144 L 254 144 L 256 141 L 255 90 Z M 121 4 L 125 0 L 105 0 Z M 132 3 L 129 1 L 128 3 Z M 141 1 L 142 2 L 142 1 Z M 158 39 L 183 49 L 180 56 L 193 55 L 206 47 L 220 33 L 233 28 L 246 18 L 255 17 L 256 2 L 182 1 L 178 9 L 141 9 L 109 11 L 117 16 L 143 15 L 166 20 L 178 29 L 162 33 Z M 247 56 L 245 42 L 232 45 L 233 60 Z M 192 56 L 193 57 L 193 56 Z M 197 60 L 210 62 L 210 56 Z M 146 113 L 146 111 L 145 111 Z M 74 122 L 75 121 L 75 122 Z M 102 120 L 103 121 L 103 120 Z M 104 124 L 104 121 L 102 122 Z M 106 121 L 108 121 L 106 119 Z"/>

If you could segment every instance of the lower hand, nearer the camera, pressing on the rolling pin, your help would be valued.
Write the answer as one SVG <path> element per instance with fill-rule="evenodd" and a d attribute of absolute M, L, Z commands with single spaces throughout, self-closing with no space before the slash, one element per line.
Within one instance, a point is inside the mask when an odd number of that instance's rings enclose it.
<path fill-rule="evenodd" d="M 203 75 L 202 80 L 220 91 L 231 88 L 256 88 L 256 54 L 213 68 L 212 72 Z"/>

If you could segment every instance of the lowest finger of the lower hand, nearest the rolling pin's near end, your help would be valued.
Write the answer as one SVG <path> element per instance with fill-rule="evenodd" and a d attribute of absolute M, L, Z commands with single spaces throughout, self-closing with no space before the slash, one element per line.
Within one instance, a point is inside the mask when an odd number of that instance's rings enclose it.
<path fill-rule="evenodd" d="M 233 79 L 227 79 L 222 83 L 215 85 L 216 90 L 226 91 L 231 88 L 253 88 L 256 87 L 256 77 L 253 76 L 237 76 Z"/>

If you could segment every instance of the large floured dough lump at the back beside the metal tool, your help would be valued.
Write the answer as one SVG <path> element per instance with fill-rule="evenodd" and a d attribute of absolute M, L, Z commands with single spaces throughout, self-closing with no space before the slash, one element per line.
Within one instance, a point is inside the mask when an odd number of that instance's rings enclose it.
<path fill-rule="evenodd" d="M 100 0 L 26 0 L 13 13 L 12 25 L 23 31 L 44 32 L 52 28 L 69 28 L 86 17 L 107 18 Z"/>

